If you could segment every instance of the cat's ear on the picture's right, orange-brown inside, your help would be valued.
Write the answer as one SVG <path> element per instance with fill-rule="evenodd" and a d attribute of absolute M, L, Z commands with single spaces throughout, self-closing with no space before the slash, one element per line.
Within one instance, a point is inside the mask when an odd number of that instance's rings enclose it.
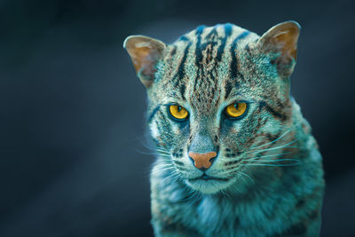
<path fill-rule="evenodd" d="M 300 25 L 293 20 L 282 22 L 270 28 L 257 42 L 264 53 L 273 53 L 280 74 L 291 75 L 297 59 L 297 41 Z"/>

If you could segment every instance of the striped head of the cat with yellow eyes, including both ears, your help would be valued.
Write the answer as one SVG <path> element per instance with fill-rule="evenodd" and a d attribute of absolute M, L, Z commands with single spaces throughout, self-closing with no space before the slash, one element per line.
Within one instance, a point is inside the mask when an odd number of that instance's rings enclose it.
<path fill-rule="evenodd" d="M 125 40 L 146 86 L 162 169 L 206 194 L 240 181 L 255 148 L 280 137 L 290 121 L 299 30 L 287 21 L 260 37 L 224 24 L 201 26 L 172 44 Z"/>

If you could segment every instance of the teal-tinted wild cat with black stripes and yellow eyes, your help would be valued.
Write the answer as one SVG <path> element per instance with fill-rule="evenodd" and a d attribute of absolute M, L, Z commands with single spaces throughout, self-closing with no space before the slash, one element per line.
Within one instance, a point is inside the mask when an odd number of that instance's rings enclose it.
<path fill-rule="evenodd" d="M 322 157 L 290 96 L 300 26 L 123 43 L 145 85 L 156 236 L 318 236 Z"/>

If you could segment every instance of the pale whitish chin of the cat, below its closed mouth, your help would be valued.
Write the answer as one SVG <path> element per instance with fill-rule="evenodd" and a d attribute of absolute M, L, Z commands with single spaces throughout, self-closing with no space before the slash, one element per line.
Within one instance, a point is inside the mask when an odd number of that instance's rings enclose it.
<path fill-rule="evenodd" d="M 186 179 L 185 184 L 203 194 L 217 194 L 228 186 L 233 184 L 232 179 L 228 180 L 204 180 L 204 179 Z"/>

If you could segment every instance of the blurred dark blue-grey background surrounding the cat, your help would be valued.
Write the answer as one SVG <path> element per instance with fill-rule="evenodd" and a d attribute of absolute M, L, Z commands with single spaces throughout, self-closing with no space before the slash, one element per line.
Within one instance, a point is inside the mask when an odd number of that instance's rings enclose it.
<path fill-rule="evenodd" d="M 146 94 L 122 49 L 200 24 L 303 27 L 292 93 L 324 156 L 323 236 L 355 234 L 355 4 L 0 1 L 0 236 L 149 236 Z"/>

